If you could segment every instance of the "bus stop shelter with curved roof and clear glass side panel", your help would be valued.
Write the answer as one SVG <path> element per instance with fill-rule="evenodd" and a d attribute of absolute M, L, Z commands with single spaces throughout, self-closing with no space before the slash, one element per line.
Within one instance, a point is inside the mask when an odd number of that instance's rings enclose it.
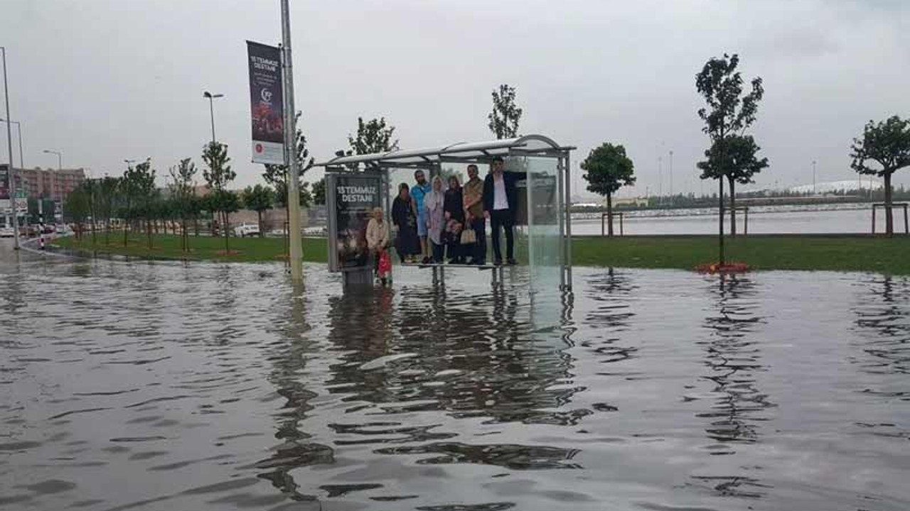
<path fill-rule="evenodd" d="M 573 149 L 575 147 L 557 144 L 544 135 L 523 135 L 425 149 L 395 149 L 371 155 L 342 155 L 320 162 L 317 166 L 325 167 L 330 177 L 372 175 L 378 178 L 380 204 L 388 218 L 392 199 L 391 181 L 397 172 L 404 170 L 410 171 L 410 174 L 422 169 L 432 178 L 452 165 L 473 164 L 480 168 L 482 178 L 486 175 L 484 168 L 489 168 L 493 158 L 501 157 L 505 160 L 506 172 L 519 174 L 516 242 L 521 250 L 526 251 L 531 286 L 537 289 L 559 286 L 560 289 L 571 290 L 569 158 Z M 329 188 L 334 182 L 327 179 L 329 251 L 335 250 L 333 245 L 338 235 L 332 232 L 331 221 L 336 194 Z"/>

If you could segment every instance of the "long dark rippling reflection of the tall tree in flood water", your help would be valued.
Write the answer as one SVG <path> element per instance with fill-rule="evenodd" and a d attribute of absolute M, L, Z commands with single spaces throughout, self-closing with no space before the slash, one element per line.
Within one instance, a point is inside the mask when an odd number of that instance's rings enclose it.
<path fill-rule="evenodd" d="M 721 276 L 711 288 L 712 315 L 705 318 L 709 331 L 699 342 L 705 349 L 705 379 L 713 382 L 718 396 L 711 411 L 698 414 L 711 419 L 708 436 L 719 442 L 754 442 L 757 423 L 766 420 L 760 413 L 773 406 L 755 386 L 755 373 L 763 371 L 760 347 L 754 341 L 763 318 L 756 315 L 757 294 L 753 281 L 744 276 Z"/>

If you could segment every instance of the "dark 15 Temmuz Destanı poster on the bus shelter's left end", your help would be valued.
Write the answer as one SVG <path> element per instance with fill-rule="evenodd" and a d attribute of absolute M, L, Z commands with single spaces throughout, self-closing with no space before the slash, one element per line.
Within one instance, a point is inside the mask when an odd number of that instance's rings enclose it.
<path fill-rule="evenodd" d="M 379 175 L 329 174 L 329 270 L 350 271 L 370 265 L 367 224 L 382 205 Z"/>

